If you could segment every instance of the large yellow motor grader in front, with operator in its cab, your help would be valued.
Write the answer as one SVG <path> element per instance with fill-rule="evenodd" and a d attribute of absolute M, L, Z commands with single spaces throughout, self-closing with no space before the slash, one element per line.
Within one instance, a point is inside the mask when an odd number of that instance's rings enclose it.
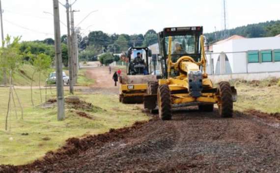
<path fill-rule="evenodd" d="M 170 120 L 173 107 L 198 106 L 212 112 L 218 104 L 221 117 L 232 117 L 237 92 L 228 82 L 213 87 L 206 73 L 202 27 L 165 28 L 158 33 L 163 79 L 148 84 L 144 108 L 158 108 Z"/>

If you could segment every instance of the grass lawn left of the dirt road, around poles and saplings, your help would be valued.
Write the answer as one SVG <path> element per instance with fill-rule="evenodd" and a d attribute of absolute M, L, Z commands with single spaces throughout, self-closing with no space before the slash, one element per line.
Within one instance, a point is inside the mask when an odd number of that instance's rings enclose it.
<path fill-rule="evenodd" d="M 119 103 L 117 95 L 76 92 L 84 101 L 101 109 L 86 112 L 92 117 L 92 119 L 88 119 L 77 115 L 75 110 L 68 108 L 66 109 L 66 119 L 57 121 L 56 108 L 33 108 L 30 102 L 30 91 L 28 89 L 18 89 L 17 91 L 24 106 L 24 120 L 20 119 L 19 108 L 17 108 L 18 119 L 12 109 L 8 131 L 5 131 L 4 119 L 7 110 L 8 89 L 0 88 L 0 164 L 26 164 L 44 156 L 49 150 L 61 147 L 68 138 L 104 133 L 111 128 L 130 126 L 135 121 L 149 119 L 148 116 L 141 113 L 138 107 Z M 39 104 L 39 90 L 34 90 L 34 93 L 35 103 Z M 48 98 L 54 97 L 50 92 L 48 93 Z"/>

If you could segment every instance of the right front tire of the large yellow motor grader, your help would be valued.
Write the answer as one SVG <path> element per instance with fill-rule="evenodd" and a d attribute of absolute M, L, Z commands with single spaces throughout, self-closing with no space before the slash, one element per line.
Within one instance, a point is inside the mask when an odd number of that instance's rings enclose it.
<path fill-rule="evenodd" d="M 221 117 L 228 118 L 233 115 L 233 100 L 230 84 L 220 82 L 218 87 L 218 107 Z"/>

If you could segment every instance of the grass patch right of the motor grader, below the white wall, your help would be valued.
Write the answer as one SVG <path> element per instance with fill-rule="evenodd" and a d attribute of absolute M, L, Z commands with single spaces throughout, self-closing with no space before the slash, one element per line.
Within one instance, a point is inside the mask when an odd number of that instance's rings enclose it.
<path fill-rule="evenodd" d="M 264 80 L 233 84 L 238 93 L 238 100 L 234 103 L 235 110 L 254 109 L 264 113 L 280 113 L 280 86 L 277 85 L 277 82 Z"/>

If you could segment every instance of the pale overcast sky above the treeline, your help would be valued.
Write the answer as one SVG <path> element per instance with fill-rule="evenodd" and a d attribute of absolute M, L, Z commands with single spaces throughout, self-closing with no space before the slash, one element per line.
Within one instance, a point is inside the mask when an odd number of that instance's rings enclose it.
<path fill-rule="evenodd" d="M 1 1 L 5 35 L 22 35 L 22 40 L 54 37 L 53 16 L 43 13 L 53 13 L 53 0 Z M 75 13 L 76 25 L 98 10 L 79 26 L 84 34 L 89 30 L 144 34 L 148 29 L 185 26 L 203 26 L 204 32 L 212 32 L 223 25 L 223 0 L 77 0 L 73 8 L 81 10 Z M 226 0 L 226 9 L 229 28 L 280 19 L 280 0 Z M 66 24 L 62 5 L 60 20 Z M 61 24 L 61 35 L 66 31 Z"/>

